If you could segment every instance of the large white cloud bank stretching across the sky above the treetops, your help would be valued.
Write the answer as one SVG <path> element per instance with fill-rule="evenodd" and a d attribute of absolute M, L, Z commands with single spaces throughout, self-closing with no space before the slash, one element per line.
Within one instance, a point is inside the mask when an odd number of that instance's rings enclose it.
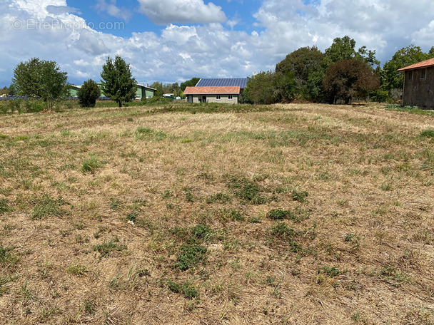
<path fill-rule="evenodd" d="M 186 3 L 191 5 L 194 1 L 184 1 L 183 11 L 187 11 Z M 145 2 L 141 0 L 142 9 Z M 182 1 L 158 2 L 166 4 L 168 16 L 179 11 L 169 9 L 169 2 L 173 8 L 180 8 L 176 4 Z M 16 64 L 34 56 L 56 61 L 68 72 L 71 83 L 79 84 L 87 78 L 99 81 L 107 56 L 116 54 L 131 63 L 138 81 L 146 83 L 181 82 L 195 76 L 245 77 L 253 71 L 274 68 L 301 46 L 316 44 L 324 50 L 333 38 L 345 35 L 355 38 L 357 46 L 377 49 L 384 63 L 410 43 L 423 46 L 424 51 L 434 45 L 430 14 L 434 12 L 434 2 L 403 2 L 323 0 L 321 4 L 306 5 L 301 0 L 264 0 L 255 14 L 255 31 L 248 33 L 215 22 L 198 26 L 169 22 L 161 33 L 133 32 L 131 37 L 123 38 L 89 28 L 84 19 L 65 8 L 64 0 L 1 1 L 0 68 L 5 71 L 0 74 L 0 87 L 9 85 Z M 196 4 L 209 5 L 202 0 Z M 49 6 L 64 10 L 53 11 Z M 192 10 L 187 12 L 195 14 Z M 218 8 L 215 13 L 223 11 Z M 161 19 L 168 17 L 163 10 L 161 15 Z M 51 28 L 26 29 L 27 20 L 49 24 Z M 14 29 L 16 21 L 24 25 Z"/>

